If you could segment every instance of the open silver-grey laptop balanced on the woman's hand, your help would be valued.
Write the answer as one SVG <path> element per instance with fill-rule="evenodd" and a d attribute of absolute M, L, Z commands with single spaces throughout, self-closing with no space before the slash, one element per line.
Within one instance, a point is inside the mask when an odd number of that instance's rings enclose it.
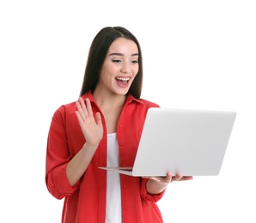
<path fill-rule="evenodd" d="M 134 177 L 216 176 L 235 111 L 149 108 L 133 166 L 99 168 Z"/>

